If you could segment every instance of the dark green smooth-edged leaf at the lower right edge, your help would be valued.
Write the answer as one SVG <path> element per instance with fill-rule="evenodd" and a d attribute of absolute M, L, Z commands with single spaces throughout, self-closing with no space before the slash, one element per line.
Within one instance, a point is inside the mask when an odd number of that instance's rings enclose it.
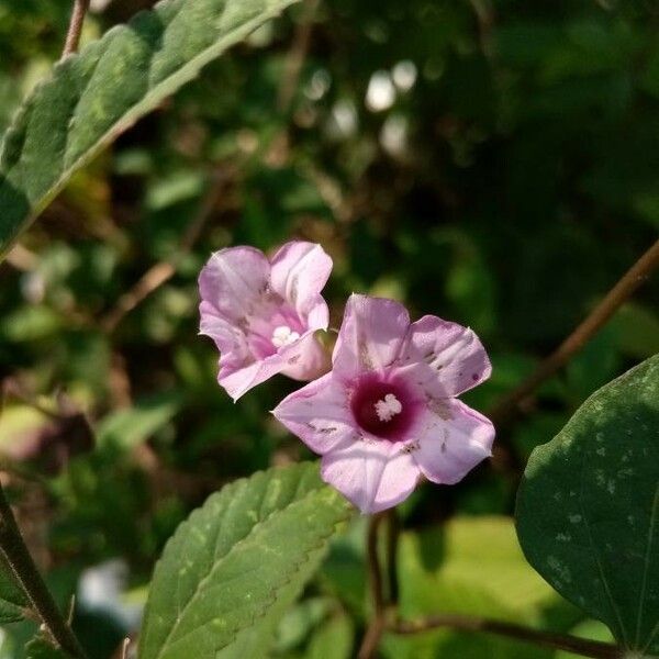
<path fill-rule="evenodd" d="M 517 533 L 532 566 L 606 623 L 659 652 L 659 355 L 595 392 L 530 456 Z"/>

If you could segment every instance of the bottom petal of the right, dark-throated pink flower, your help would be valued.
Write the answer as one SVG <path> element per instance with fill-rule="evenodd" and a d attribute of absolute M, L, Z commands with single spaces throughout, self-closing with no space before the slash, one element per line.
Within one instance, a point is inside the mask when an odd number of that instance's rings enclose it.
<path fill-rule="evenodd" d="M 362 513 L 377 513 L 411 494 L 420 469 L 400 443 L 358 440 L 326 454 L 321 476 Z"/>

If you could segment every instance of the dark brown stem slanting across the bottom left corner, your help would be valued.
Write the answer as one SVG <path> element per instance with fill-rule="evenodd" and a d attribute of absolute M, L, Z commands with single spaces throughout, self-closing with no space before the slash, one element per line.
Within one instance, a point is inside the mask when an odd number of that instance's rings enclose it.
<path fill-rule="evenodd" d="M 85 650 L 62 615 L 30 555 L 1 483 L 0 551 L 51 636 L 75 659 L 86 659 Z"/>

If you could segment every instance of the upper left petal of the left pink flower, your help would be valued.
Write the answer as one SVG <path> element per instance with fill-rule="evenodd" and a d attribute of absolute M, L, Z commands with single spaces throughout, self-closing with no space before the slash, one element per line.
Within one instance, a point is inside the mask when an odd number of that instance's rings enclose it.
<path fill-rule="evenodd" d="M 270 264 L 253 247 L 228 247 L 215 252 L 199 276 L 201 299 L 227 320 L 249 316 L 263 298 Z"/>

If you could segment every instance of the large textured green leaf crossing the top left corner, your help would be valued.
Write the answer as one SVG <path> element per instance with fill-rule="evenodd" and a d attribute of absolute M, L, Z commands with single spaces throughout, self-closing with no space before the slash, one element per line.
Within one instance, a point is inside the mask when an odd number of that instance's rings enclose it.
<path fill-rule="evenodd" d="M 3 139 L 0 255 L 76 170 L 295 1 L 165 0 L 56 65 Z"/>

